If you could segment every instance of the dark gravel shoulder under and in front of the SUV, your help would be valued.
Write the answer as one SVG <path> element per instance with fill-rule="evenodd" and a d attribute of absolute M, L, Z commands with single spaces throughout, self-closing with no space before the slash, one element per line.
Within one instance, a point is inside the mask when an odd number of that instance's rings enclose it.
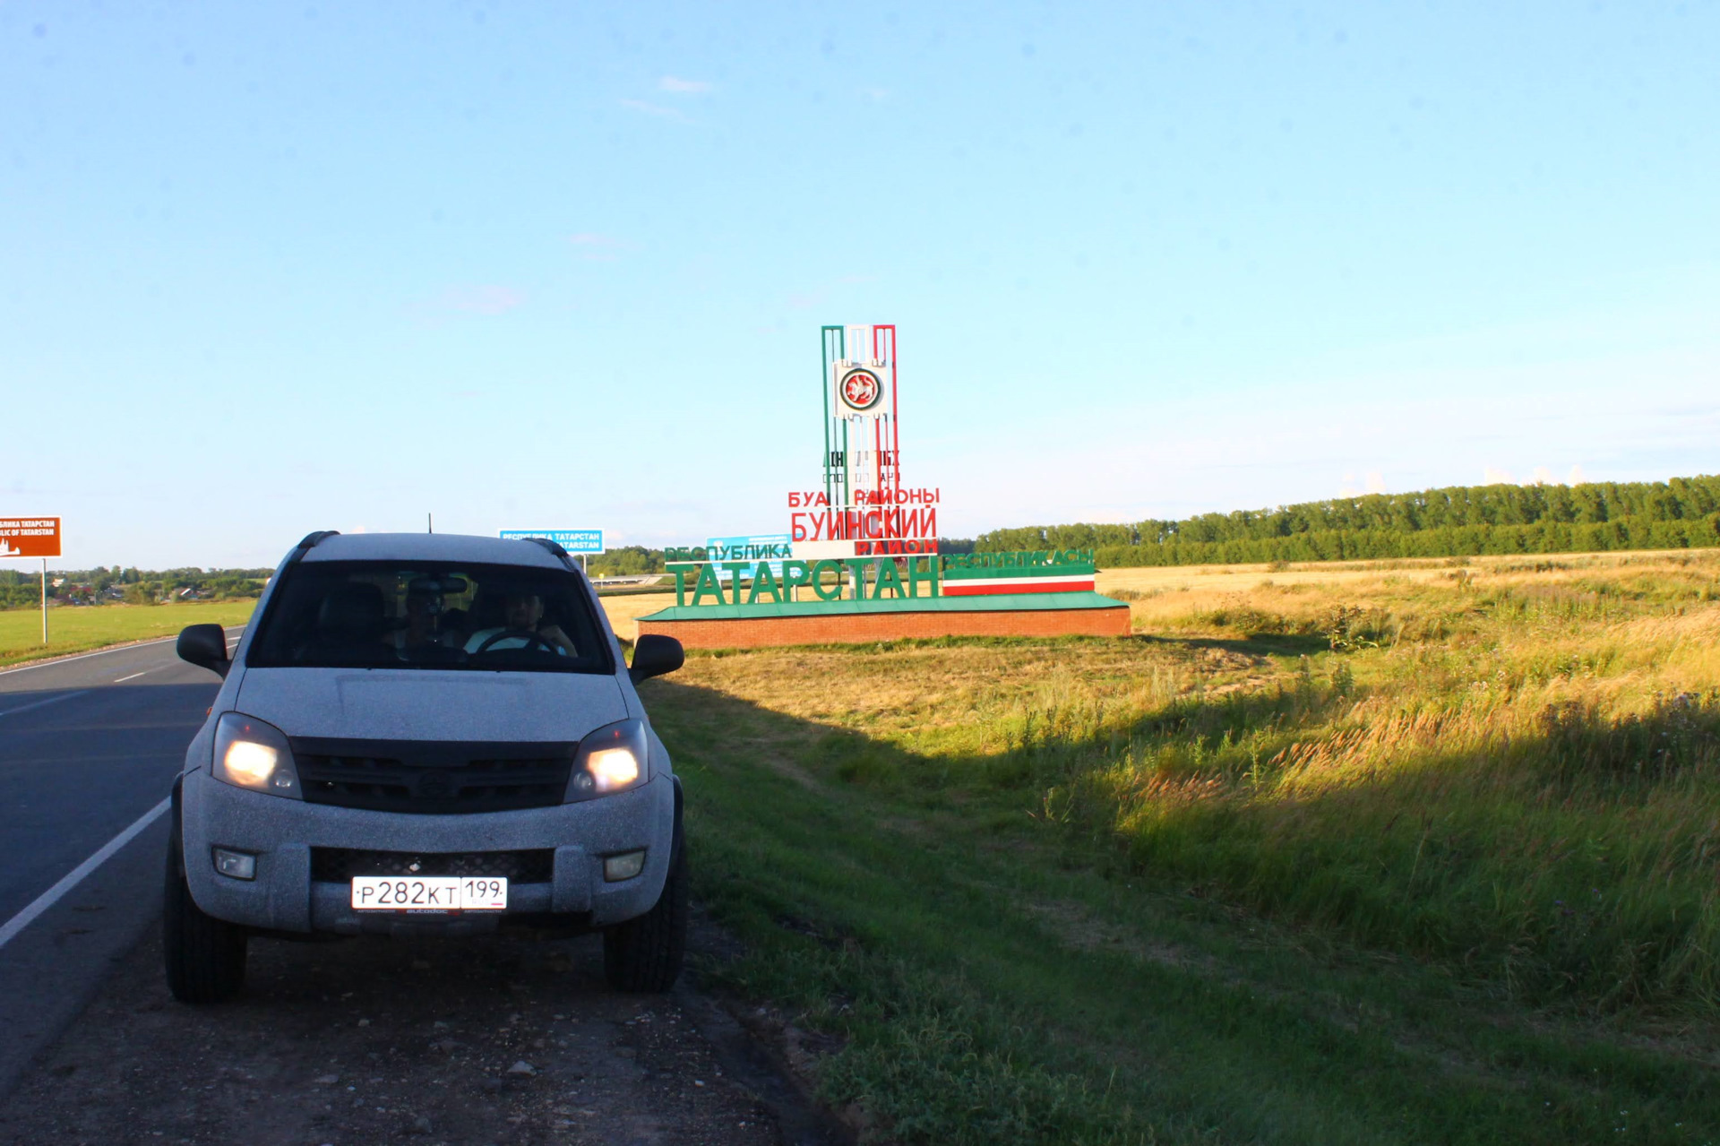
<path fill-rule="evenodd" d="M 253 941 L 243 1000 L 175 1003 L 151 936 L 0 1105 L 0 1141 L 841 1141 L 721 1007 L 602 984 L 597 938 Z"/>

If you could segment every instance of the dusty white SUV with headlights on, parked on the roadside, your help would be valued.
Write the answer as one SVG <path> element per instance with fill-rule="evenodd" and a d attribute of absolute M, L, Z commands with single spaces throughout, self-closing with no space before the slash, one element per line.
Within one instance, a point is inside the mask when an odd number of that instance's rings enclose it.
<path fill-rule="evenodd" d="M 174 783 L 167 981 L 244 983 L 246 940 L 604 931 L 609 983 L 664 991 L 686 945 L 681 785 L 580 568 L 547 540 L 311 533 L 227 659 Z"/>

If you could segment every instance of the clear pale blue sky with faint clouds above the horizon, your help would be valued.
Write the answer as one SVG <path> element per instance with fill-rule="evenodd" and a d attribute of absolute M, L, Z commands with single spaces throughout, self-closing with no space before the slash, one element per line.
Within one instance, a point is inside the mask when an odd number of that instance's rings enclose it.
<path fill-rule="evenodd" d="M 946 535 L 1713 473 L 1715 59 L 1713 2 L 0 2 L 0 514 L 776 532 L 826 322 L 898 323 Z"/>

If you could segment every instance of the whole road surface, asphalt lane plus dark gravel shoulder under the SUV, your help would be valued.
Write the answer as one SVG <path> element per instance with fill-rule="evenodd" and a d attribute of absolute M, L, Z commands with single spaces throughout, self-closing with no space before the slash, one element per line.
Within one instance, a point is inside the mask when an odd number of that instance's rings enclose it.
<path fill-rule="evenodd" d="M 253 943 L 244 996 L 174 1003 L 165 804 L 217 690 L 170 640 L 0 673 L 0 1143 L 851 1141 L 791 1026 L 609 991 L 599 936 Z"/>

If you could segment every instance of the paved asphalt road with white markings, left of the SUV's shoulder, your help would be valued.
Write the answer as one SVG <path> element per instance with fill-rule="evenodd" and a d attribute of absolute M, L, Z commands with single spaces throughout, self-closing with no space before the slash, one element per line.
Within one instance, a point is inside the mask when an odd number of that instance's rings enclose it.
<path fill-rule="evenodd" d="M 0 1094 L 160 917 L 150 814 L 218 687 L 172 640 L 0 673 Z"/>

